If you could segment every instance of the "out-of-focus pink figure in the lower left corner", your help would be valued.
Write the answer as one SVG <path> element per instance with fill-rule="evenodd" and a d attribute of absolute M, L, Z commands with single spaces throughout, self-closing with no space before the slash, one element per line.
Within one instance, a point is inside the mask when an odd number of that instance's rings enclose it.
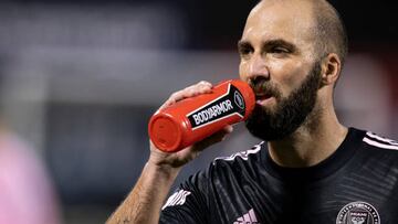
<path fill-rule="evenodd" d="M 60 224 L 52 182 L 34 150 L 0 125 L 0 224 Z"/>

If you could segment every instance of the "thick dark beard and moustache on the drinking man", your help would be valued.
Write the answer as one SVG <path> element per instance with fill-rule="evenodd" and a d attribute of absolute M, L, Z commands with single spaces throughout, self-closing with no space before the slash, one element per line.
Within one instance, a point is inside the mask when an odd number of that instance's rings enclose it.
<path fill-rule="evenodd" d="M 280 140 L 293 134 L 314 109 L 321 85 L 321 63 L 315 62 L 303 83 L 286 97 L 269 81 L 250 84 L 254 92 L 275 97 L 277 104 L 274 109 L 255 105 L 245 121 L 248 130 L 262 140 Z"/>

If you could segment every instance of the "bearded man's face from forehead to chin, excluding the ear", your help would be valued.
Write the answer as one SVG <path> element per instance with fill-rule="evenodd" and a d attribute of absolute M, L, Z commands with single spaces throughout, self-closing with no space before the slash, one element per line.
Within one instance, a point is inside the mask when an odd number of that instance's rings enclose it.
<path fill-rule="evenodd" d="M 314 22 L 311 8 L 300 2 L 262 1 L 239 42 L 240 77 L 256 95 L 247 127 L 264 140 L 292 134 L 316 103 L 321 65 L 314 54 Z"/>

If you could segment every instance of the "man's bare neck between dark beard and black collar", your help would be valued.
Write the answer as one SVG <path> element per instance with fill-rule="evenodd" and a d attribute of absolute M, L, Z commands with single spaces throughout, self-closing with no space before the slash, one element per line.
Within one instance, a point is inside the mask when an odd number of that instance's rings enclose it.
<path fill-rule="evenodd" d="M 343 142 L 348 129 L 334 113 L 305 121 L 291 136 L 270 141 L 272 160 L 281 167 L 312 167 L 328 158 Z"/>

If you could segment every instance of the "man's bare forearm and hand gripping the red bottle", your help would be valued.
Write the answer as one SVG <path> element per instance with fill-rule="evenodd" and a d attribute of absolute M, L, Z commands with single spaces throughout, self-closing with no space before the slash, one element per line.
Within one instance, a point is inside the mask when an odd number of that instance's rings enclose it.
<path fill-rule="evenodd" d="M 197 85 L 176 92 L 160 107 L 175 104 L 184 98 L 211 92 L 211 84 L 200 82 Z M 195 159 L 208 146 L 223 140 L 232 131 L 228 126 L 213 136 L 174 153 L 163 152 L 150 142 L 150 157 L 142 175 L 126 200 L 113 213 L 107 224 L 155 224 L 159 222 L 161 205 L 168 195 L 182 166 Z"/>

